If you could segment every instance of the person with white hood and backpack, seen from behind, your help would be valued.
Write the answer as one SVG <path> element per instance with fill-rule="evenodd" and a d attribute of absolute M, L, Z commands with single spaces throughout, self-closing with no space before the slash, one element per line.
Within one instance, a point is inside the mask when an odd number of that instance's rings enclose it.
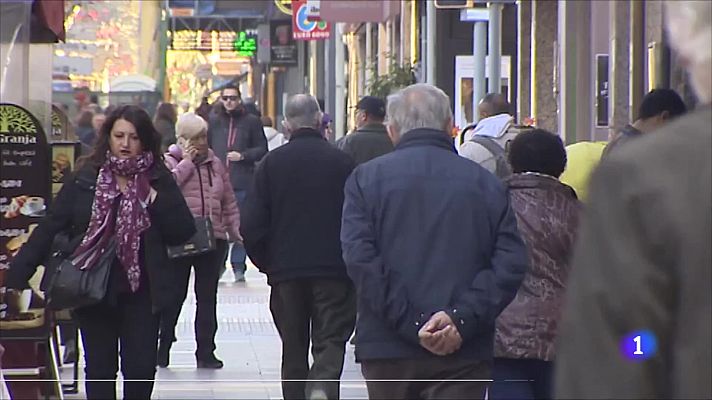
<path fill-rule="evenodd" d="M 504 95 L 489 93 L 480 102 L 478 110 L 480 121 L 471 129 L 465 129 L 458 153 L 505 178 L 511 173 L 505 156 L 507 143 L 520 133 L 519 129 L 510 129 L 514 128 L 514 117 L 509 114 L 510 104 Z"/>

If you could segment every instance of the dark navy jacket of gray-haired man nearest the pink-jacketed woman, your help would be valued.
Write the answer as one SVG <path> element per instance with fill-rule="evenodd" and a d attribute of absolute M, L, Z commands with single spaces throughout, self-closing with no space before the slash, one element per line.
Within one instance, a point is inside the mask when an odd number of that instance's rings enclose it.
<path fill-rule="evenodd" d="M 255 170 L 240 215 L 250 260 L 270 285 L 302 278 L 348 280 L 341 258 L 344 183 L 354 168 L 316 129 L 292 133 Z"/>

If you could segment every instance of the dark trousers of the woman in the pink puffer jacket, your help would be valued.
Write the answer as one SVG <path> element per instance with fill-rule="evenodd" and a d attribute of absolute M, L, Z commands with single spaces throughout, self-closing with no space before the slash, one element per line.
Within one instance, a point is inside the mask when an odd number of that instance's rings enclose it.
<path fill-rule="evenodd" d="M 183 308 L 183 303 L 188 296 L 188 282 L 190 269 L 195 269 L 195 341 L 198 359 L 209 357 L 215 351 L 215 333 L 218 330 L 217 321 L 217 293 L 218 279 L 220 279 L 220 266 L 227 252 L 227 241 L 217 240 L 215 250 L 209 253 L 192 257 L 182 257 L 172 260 L 174 278 L 180 287 L 180 296 L 172 307 L 166 308 L 161 313 L 162 342 L 171 344 L 175 340 L 175 328 L 178 316 Z"/>

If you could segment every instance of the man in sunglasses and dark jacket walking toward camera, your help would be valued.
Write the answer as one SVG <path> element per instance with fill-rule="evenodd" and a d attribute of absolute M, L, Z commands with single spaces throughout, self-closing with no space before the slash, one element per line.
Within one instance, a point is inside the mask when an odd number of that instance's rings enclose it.
<path fill-rule="evenodd" d="M 230 184 L 235 191 L 237 205 L 242 208 L 252 183 L 255 164 L 267 154 L 267 138 L 260 119 L 247 112 L 240 89 L 225 86 L 220 92 L 222 105 L 210 114 L 208 143 L 215 155 L 230 170 Z M 235 243 L 230 253 L 230 264 L 235 281 L 245 280 L 245 249 Z"/>

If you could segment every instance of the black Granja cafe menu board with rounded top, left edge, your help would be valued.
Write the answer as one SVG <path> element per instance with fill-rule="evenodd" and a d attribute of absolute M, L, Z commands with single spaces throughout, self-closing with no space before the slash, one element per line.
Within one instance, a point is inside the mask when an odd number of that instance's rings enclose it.
<path fill-rule="evenodd" d="M 24 108 L 0 103 L 0 317 L 5 270 L 45 215 L 50 183 L 42 125 Z"/>

